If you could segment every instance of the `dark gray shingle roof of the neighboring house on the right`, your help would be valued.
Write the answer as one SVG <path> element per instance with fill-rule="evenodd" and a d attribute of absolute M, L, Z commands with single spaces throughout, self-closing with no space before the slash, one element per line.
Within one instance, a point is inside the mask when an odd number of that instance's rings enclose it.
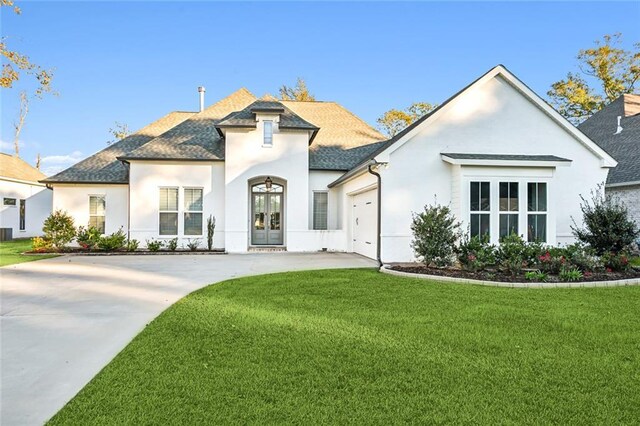
<path fill-rule="evenodd" d="M 608 184 L 640 181 L 640 95 L 622 95 L 578 126 L 618 161 L 609 170 Z M 616 134 L 618 117 L 622 132 Z"/>

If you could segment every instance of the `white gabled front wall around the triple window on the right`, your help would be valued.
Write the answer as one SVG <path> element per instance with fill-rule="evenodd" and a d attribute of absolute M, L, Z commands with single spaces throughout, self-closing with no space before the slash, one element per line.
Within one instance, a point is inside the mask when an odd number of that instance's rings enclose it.
<path fill-rule="evenodd" d="M 566 129 L 551 120 L 502 77 L 463 93 L 435 120 L 427 120 L 406 143 L 387 153 L 382 175 L 382 259 L 411 261 L 411 213 L 424 205 L 451 204 L 468 223 L 465 166 L 453 166 L 440 153 L 555 155 L 573 160 L 569 167 L 549 169 L 549 208 L 555 214 L 550 242 L 572 241 L 571 218 L 580 220 L 580 194 L 588 194 L 607 177 L 601 159 Z M 388 154 L 388 155 L 387 155 Z M 381 156 L 382 157 L 382 156 Z M 486 176 L 507 179 L 511 171 L 484 167 Z M 540 174 L 540 171 L 521 171 Z M 543 173 L 543 174 L 544 174 Z M 467 180 L 468 181 L 468 180 Z M 495 191 L 492 191 L 495 192 Z M 522 232 L 522 228 L 520 229 Z"/>

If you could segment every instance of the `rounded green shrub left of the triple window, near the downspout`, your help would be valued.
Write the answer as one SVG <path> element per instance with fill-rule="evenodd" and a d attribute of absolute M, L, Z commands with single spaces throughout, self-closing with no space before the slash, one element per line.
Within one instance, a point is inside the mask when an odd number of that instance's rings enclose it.
<path fill-rule="evenodd" d="M 427 266 L 444 267 L 455 261 L 460 223 L 448 206 L 425 206 L 413 214 L 411 247 L 418 259 Z"/>

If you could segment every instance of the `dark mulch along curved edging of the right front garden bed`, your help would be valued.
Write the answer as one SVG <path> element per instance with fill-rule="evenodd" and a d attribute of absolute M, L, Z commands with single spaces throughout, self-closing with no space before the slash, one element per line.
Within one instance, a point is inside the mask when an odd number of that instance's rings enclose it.
<path fill-rule="evenodd" d="M 439 277 L 464 278 L 469 280 L 499 281 L 508 283 L 535 282 L 526 280 L 524 272 L 518 275 L 505 274 L 499 270 L 487 270 L 480 272 L 466 271 L 458 268 L 431 268 L 420 264 L 395 264 L 389 269 L 399 272 L 409 272 L 412 274 L 437 275 Z M 583 276 L 582 279 L 574 282 L 589 281 L 617 281 L 640 278 L 640 269 L 630 268 L 627 272 L 594 272 Z M 562 282 L 557 275 L 547 275 L 545 282 Z"/>

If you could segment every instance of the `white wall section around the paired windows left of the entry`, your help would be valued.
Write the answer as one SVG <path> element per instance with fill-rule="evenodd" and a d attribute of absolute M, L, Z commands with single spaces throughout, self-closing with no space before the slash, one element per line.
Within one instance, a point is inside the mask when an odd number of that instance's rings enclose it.
<path fill-rule="evenodd" d="M 214 248 L 225 247 L 225 186 L 223 162 L 199 161 L 132 161 L 129 171 L 131 186 L 131 238 L 146 246 L 147 240 L 178 238 L 178 246 L 200 239 L 207 244 L 207 218 L 216 218 Z M 178 191 L 178 235 L 159 235 L 160 188 L 176 187 Z M 184 235 L 184 188 L 202 188 L 202 235 Z"/>

